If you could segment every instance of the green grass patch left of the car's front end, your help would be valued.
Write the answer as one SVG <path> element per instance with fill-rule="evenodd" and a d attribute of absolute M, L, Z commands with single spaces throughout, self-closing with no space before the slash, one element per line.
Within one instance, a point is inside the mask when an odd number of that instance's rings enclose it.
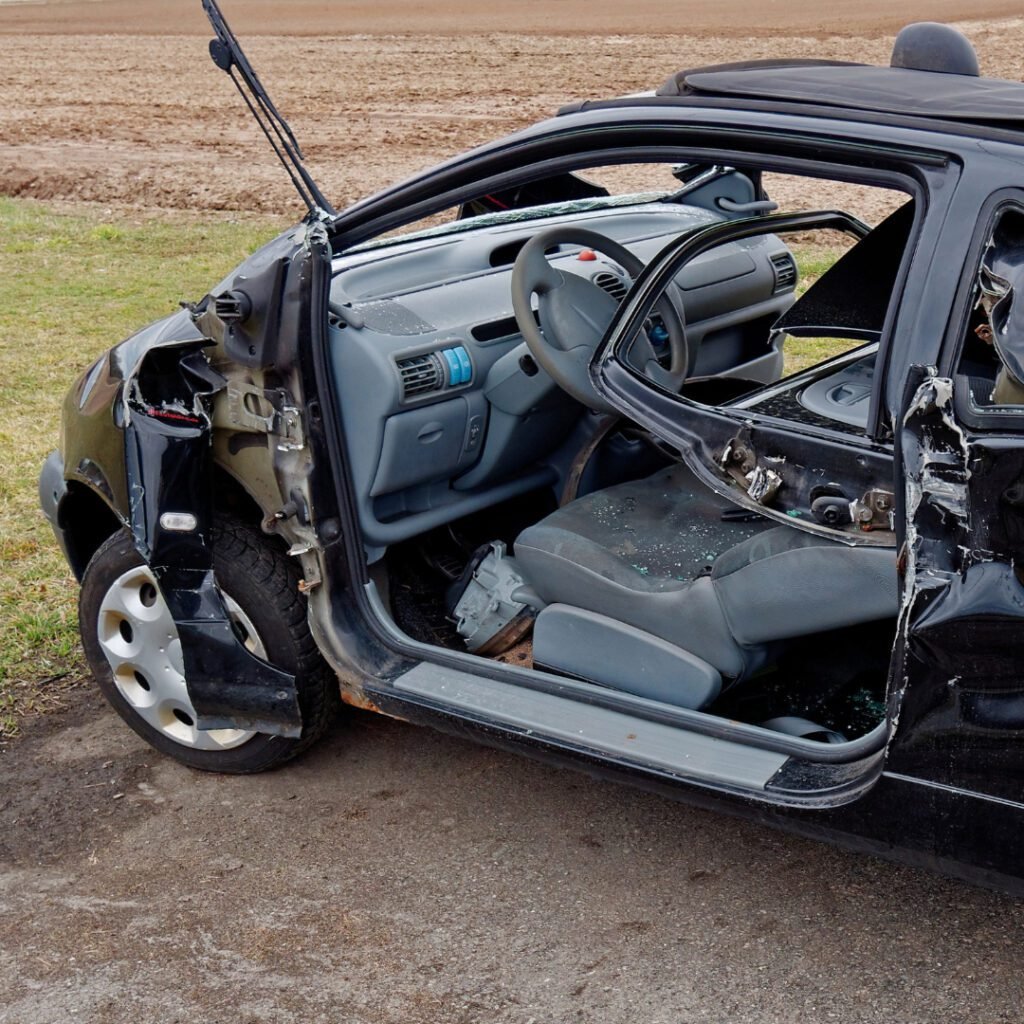
<path fill-rule="evenodd" d="M 100 352 L 201 298 L 286 226 L 0 198 L 0 738 L 86 674 L 78 587 L 36 496 L 65 392 Z"/>

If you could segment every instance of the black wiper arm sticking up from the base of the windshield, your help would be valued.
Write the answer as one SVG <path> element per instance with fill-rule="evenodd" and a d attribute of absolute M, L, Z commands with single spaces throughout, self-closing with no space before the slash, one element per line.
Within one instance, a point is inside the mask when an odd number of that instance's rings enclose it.
<path fill-rule="evenodd" d="M 267 95 L 263 83 L 253 71 L 234 33 L 224 20 L 224 15 L 217 6 L 217 0 L 203 0 L 203 10 L 206 11 L 206 16 L 210 19 L 217 37 L 210 40 L 210 56 L 213 62 L 221 71 L 227 72 L 246 105 L 252 111 L 256 123 L 266 135 L 267 141 L 273 146 L 278 159 L 288 171 L 288 176 L 292 179 L 302 202 L 313 216 L 322 214 L 335 216 L 337 211 L 316 187 L 316 182 L 303 166 L 302 151 L 295 134 L 281 112 L 273 105 L 273 100 Z"/>

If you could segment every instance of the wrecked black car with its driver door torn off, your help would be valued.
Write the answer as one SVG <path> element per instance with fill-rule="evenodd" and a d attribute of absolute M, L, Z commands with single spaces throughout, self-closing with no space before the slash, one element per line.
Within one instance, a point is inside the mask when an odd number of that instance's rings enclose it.
<path fill-rule="evenodd" d="M 257 771 L 340 696 L 1024 888 L 1024 86 L 911 26 L 337 212 L 204 6 L 308 213 L 66 400 L 126 722 Z"/>

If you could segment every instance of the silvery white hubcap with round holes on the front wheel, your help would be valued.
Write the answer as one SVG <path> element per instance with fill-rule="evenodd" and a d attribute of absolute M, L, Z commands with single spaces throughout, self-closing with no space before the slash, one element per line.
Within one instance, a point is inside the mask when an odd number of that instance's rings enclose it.
<path fill-rule="evenodd" d="M 246 647 L 265 658 L 263 641 L 249 616 L 227 594 L 223 598 Z M 196 728 L 198 716 L 185 686 L 181 641 L 148 566 L 131 568 L 114 581 L 100 602 L 96 630 L 115 685 L 158 732 L 198 751 L 225 751 L 256 735 L 246 729 Z"/>

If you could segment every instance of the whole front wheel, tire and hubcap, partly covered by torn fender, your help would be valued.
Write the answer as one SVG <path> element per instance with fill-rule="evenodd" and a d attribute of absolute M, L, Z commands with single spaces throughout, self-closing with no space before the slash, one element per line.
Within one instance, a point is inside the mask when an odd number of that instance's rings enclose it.
<path fill-rule="evenodd" d="M 220 520 L 213 568 L 239 639 L 257 657 L 295 675 L 300 737 L 196 727 L 174 620 L 127 530 L 110 538 L 85 570 L 82 643 L 103 695 L 157 750 L 204 771 L 263 771 L 323 735 L 340 702 L 338 683 L 309 633 L 298 572 L 286 555 L 255 530 Z"/>

